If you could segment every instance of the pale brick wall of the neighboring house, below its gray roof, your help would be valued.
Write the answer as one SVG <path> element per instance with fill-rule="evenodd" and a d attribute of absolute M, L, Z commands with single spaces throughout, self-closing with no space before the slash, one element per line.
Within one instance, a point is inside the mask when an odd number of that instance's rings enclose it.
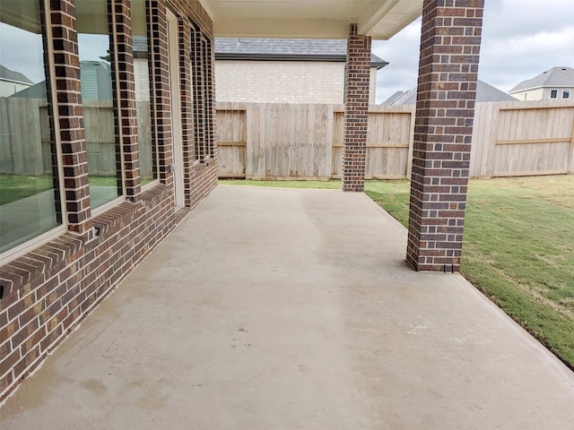
<path fill-rule="evenodd" d="M 344 63 L 319 61 L 216 60 L 218 102 L 344 102 Z M 370 104 L 375 104 L 377 68 L 370 68 Z"/>

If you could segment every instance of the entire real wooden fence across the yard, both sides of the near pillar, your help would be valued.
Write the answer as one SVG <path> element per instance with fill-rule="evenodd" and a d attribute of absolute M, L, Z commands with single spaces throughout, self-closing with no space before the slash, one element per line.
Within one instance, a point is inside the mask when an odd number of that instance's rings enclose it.
<path fill-rule="evenodd" d="M 368 179 L 410 176 L 414 106 L 373 106 Z M 219 103 L 220 177 L 341 177 L 344 109 L 339 105 Z M 477 103 L 470 176 L 574 172 L 574 103 Z"/>

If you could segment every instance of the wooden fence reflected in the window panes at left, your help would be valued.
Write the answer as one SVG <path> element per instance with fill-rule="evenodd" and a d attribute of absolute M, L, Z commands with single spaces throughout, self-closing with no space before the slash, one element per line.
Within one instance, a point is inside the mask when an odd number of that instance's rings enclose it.
<path fill-rule="evenodd" d="M 152 177 L 150 102 L 136 103 L 140 172 Z M 111 100 L 83 102 L 90 175 L 116 176 L 116 135 Z M 51 174 L 52 150 L 45 99 L 0 98 L 0 173 Z"/>

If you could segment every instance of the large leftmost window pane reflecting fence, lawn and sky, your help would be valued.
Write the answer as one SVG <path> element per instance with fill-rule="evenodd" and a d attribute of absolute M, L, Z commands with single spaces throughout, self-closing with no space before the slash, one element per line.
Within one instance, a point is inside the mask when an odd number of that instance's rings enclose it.
<path fill-rule="evenodd" d="M 39 2 L 0 2 L 0 252 L 61 224 Z"/>

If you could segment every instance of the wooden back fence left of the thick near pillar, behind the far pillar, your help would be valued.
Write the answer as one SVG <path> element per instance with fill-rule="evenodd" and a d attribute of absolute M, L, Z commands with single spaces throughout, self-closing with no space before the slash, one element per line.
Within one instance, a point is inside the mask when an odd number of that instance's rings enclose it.
<path fill-rule="evenodd" d="M 371 107 L 367 177 L 406 177 L 413 107 Z M 322 104 L 218 103 L 220 177 L 341 177 L 344 107 Z"/>

